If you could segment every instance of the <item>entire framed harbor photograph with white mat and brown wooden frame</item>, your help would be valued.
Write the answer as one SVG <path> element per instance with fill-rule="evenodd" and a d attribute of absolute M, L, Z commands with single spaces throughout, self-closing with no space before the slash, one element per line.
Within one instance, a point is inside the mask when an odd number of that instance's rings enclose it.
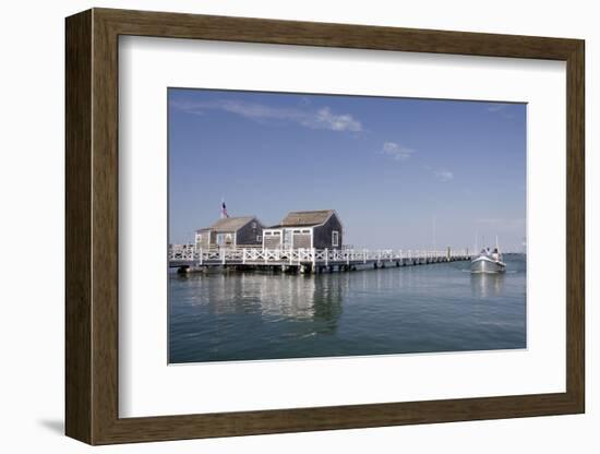
<path fill-rule="evenodd" d="M 67 19 L 67 434 L 583 413 L 584 41 Z"/>

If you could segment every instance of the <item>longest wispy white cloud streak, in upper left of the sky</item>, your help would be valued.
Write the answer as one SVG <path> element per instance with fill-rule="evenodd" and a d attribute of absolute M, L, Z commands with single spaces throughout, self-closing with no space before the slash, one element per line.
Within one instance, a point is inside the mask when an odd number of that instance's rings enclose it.
<path fill-rule="evenodd" d="M 308 105 L 307 105 L 308 106 Z M 310 129 L 329 131 L 362 131 L 362 123 L 349 113 L 335 113 L 328 107 L 320 109 L 273 107 L 235 99 L 211 101 L 171 101 L 171 107 L 188 113 L 205 115 L 207 110 L 220 110 L 255 121 L 288 121 Z"/>

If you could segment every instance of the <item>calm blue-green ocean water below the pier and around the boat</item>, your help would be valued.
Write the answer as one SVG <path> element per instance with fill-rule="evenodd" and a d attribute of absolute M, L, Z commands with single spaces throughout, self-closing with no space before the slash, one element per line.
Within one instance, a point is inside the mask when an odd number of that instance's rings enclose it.
<path fill-rule="evenodd" d="M 526 347 L 526 262 L 350 273 L 169 274 L 169 362 Z"/>

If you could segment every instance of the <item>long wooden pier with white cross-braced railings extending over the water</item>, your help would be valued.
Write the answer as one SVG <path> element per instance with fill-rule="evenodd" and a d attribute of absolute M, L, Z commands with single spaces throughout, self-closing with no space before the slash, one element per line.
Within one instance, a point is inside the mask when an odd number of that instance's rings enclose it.
<path fill-rule="evenodd" d="M 352 271 L 372 267 L 413 266 L 470 260 L 468 250 L 356 250 L 356 249 L 220 249 L 202 250 L 193 244 L 169 249 L 169 266 L 180 271 L 208 267 L 269 268 L 296 273 Z"/>

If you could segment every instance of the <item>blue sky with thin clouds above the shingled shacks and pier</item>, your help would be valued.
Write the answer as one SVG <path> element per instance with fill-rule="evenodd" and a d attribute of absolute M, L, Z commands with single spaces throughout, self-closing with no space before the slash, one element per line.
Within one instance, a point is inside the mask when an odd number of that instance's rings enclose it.
<path fill-rule="evenodd" d="M 520 250 L 526 105 L 169 88 L 169 241 L 337 211 L 360 248 Z"/>

